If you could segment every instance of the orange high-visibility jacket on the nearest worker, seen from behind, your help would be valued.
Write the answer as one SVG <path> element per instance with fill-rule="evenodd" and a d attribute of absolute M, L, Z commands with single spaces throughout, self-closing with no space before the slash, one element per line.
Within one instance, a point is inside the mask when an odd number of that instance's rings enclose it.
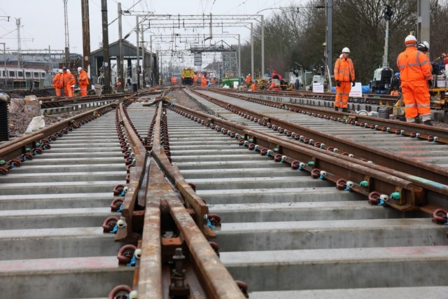
<path fill-rule="evenodd" d="M 401 83 L 409 81 L 428 81 L 433 79 L 428 56 L 415 47 L 407 47 L 397 58 Z"/>

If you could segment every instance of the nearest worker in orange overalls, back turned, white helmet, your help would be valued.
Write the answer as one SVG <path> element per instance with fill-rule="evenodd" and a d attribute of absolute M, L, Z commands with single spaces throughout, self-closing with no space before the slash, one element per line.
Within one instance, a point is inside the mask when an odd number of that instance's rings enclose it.
<path fill-rule="evenodd" d="M 428 56 L 416 48 L 416 38 L 406 36 L 406 50 L 397 58 L 400 70 L 401 90 L 405 102 L 405 117 L 408 123 L 414 123 L 417 116 L 425 125 L 431 123 L 429 87 L 433 85 L 433 74 Z"/>

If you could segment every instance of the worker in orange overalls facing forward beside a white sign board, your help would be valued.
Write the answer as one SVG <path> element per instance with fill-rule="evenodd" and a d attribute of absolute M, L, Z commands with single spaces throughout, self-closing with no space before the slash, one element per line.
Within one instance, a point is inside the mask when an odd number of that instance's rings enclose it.
<path fill-rule="evenodd" d="M 335 98 L 336 111 L 342 108 L 342 112 L 350 112 L 347 109 L 347 103 L 349 102 L 351 87 L 355 86 L 355 69 L 353 68 L 353 62 L 349 58 L 349 53 L 349 48 L 343 48 L 342 57 L 338 58 L 335 62 L 334 73 L 337 88 Z"/>

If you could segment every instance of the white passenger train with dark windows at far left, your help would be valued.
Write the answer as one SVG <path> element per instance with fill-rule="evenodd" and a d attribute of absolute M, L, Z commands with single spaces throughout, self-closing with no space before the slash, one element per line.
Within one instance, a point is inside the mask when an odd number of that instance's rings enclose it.
<path fill-rule="evenodd" d="M 22 88 L 44 88 L 46 71 L 44 69 L 20 69 L 0 66 L 0 86 L 4 90 Z"/>

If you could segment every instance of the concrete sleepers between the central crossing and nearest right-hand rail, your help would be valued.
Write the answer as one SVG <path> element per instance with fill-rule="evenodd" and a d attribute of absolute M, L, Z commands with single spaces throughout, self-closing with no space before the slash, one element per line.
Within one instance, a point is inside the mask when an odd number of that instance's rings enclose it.
<path fill-rule="evenodd" d="M 251 298 L 398 298 L 402 287 L 419 298 L 445 289 L 426 275 L 434 264 L 421 262 L 446 263 L 445 230 L 424 214 L 372 206 L 185 118 L 169 124 L 172 160 L 221 216 L 221 260 Z"/>

